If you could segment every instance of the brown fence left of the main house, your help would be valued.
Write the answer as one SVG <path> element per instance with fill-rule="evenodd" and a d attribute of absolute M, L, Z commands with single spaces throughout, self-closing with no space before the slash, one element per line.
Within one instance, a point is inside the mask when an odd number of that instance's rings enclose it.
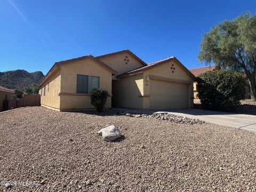
<path fill-rule="evenodd" d="M 40 94 L 25 94 L 23 98 L 17 100 L 4 100 L 3 110 L 11 110 L 27 106 L 40 106 Z"/>

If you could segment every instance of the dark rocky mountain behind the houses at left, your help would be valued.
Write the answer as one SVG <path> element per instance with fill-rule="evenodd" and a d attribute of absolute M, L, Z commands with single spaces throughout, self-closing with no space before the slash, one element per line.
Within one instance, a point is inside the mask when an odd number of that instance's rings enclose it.
<path fill-rule="evenodd" d="M 41 71 L 29 73 L 26 70 L 13 70 L 0 72 L 0 85 L 8 89 L 16 89 L 24 91 L 26 86 L 30 86 L 33 83 L 38 84 L 44 74 Z"/>

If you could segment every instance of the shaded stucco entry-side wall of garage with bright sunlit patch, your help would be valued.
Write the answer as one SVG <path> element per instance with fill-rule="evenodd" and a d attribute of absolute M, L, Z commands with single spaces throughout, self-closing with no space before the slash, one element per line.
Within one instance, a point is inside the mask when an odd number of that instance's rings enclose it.
<path fill-rule="evenodd" d="M 143 108 L 143 74 L 126 76 L 113 81 L 113 106 Z"/>

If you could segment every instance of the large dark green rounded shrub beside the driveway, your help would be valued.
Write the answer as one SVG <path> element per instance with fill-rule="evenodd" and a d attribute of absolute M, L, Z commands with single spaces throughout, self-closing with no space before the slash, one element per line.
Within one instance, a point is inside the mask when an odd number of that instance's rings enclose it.
<path fill-rule="evenodd" d="M 244 99 L 245 79 L 230 70 L 207 71 L 197 79 L 197 89 L 203 108 L 236 111 Z"/>

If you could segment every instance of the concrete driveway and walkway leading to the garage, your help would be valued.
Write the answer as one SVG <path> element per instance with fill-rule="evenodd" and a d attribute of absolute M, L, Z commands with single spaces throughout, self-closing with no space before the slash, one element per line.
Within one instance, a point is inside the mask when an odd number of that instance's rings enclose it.
<path fill-rule="evenodd" d="M 196 118 L 209 123 L 225 125 L 237 129 L 256 132 L 256 116 L 226 113 L 220 111 L 201 110 L 201 109 L 170 109 L 170 110 L 135 110 L 125 108 L 113 108 L 114 110 L 127 111 L 129 113 L 151 114 L 151 113 L 170 113 L 183 117 Z"/>

